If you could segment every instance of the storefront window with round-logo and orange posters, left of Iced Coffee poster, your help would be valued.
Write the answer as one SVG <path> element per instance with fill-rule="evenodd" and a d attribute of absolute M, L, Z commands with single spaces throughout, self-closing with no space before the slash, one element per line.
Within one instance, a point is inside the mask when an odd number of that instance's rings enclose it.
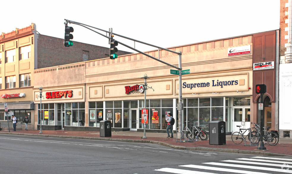
<path fill-rule="evenodd" d="M 89 127 L 99 127 L 99 121 L 103 120 L 103 102 L 89 102 Z"/>

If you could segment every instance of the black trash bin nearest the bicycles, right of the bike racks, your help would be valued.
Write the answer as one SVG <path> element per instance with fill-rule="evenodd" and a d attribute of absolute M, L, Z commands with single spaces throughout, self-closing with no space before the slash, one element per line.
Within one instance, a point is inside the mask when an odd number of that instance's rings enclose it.
<path fill-rule="evenodd" d="M 226 127 L 223 121 L 209 122 L 209 144 L 223 145 L 226 144 Z"/>

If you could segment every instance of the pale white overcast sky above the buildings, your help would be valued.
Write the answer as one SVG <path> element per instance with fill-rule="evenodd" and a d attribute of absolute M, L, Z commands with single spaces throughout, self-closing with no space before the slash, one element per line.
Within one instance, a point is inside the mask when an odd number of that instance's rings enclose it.
<path fill-rule="evenodd" d="M 64 39 L 68 19 L 163 48 L 280 28 L 280 0 L 14 0 L 1 1 L 0 7 L 0 33 L 35 23 L 40 34 Z M 73 42 L 109 47 L 106 37 L 68 25 L 74 28 Z M 133 41 L 114 39 L 134 47 Z M 157 49 L 137 42 L 135 48 Z"/>

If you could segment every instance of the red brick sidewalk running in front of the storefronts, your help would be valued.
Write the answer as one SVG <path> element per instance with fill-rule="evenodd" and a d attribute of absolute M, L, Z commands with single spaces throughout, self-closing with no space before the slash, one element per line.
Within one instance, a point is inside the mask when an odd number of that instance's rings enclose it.
<path fill-rule="evenodd" d="M 107 141 L 124 141 L 135 143 L 155 143 L 167 147 L 173 147 L 177 149 L 189 149 L 198 151 L 217 151 L 228 153 L 241 153 L 241 154 L 254 154 L 254 155 L 274 155 L 274 156 L 289 156 L 292 157 L 292 140 L 280 138 L 279 143 L 275 146 L 271 146 L 268 143 L 265 144 L 266 151 L 257 150 L 257 146 L 245 146 L 244 141 L 241 144 L 235 144 L 231 141 L 231 135 L 226 135 L 225 145 L 210 145 L 209 138 L 206 141 L 186 141 L 177 142 L 182 139 L 166 138 L 166 133 L 146 133 L 146 139 L 142 139 L 143 132 L 137 131 L 123 131 L 112 132 L 111 137 L 100 137 L 97 131 L 66 131 L 66 130 L 42 130 L 42 134 L 39 130 L 17 130 L 15 132 L 8 130 L 0 131 L 0 134 L 16 134 L 16 135 L 30 135 L 30 136 L 46 136 L 46 137 L 59 137 L 59 138 L 80 138 L 80 139 L 94 139 L 94 140 L 107 140 Z M 249 142 L 247 141 L 247 145 Z"/>

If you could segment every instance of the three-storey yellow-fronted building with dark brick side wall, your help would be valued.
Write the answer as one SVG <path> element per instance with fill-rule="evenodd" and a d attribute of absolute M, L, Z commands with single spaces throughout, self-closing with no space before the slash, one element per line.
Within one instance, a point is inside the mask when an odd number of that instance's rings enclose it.
<path fill-rule="evenodd" d="M 18 128 L 28 115 L 29 129 L 34 129 L 34 70 L 68 63 L 96 60 L 107 57 L 109 48 L 74 42 L 64 47 L 64 39 L 39 34 L 32 23 L 25 28 L 16 28 L 10 33 L 1 33 L 0 38 L 0 122 L 7 124 L 14 114 Z M 120 52 L 128 54 L 129 52 Z M 43 77 L 42 77 L 43 78 Z M 52 79 L 53 80 L 53 79 Z M 48 81 L 50 82 L 50 80 Z M 4 110 L 7 103 L 7 116 Z"/>

